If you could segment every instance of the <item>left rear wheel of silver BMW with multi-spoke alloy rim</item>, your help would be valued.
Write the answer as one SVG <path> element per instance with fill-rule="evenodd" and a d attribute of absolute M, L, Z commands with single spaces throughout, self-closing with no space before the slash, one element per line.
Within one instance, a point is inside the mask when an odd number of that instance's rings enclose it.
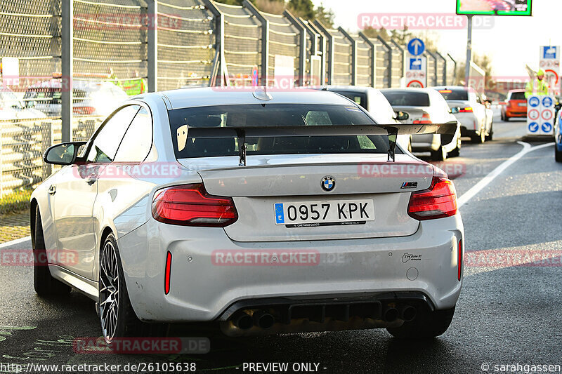
<path fill-rule="evenodd" d="M 105 263 L 103 264 L 103 262 Z M 117 279 L 116 284 L 110 285 L 107 282 L 107 276 Z M 110 290 L 111 287 L 113 291 Z M 117 292 L 115 292 L 115 289 Z M 108 296 L 115 295 L 115 293 L 117 293 L 117 299 L 108 298 Z M 113 234 L 107 235 L 100 251 L 98 295 L 99 301 L 96 306 L 98 307 L 103 338 L 107 344 L 111 344 L 114 338 L 164 336 L 166 333 L 167 325 L 162 323 L 143 323 L 136 316 L 129 300 L 129 293 L 127 293 L 121 257 L 119 256 L 117 241 Z M 117 300 L 117 304 L 115 305 L 114 303 L 112 305 L 112 302 L 107 300 Z M 115 312 L 116 319 L 108 315 L 112 309 L 117 309 L 117 312 Z M 108 322 L 115 323 L 115 325 L 112 326 Z"/>

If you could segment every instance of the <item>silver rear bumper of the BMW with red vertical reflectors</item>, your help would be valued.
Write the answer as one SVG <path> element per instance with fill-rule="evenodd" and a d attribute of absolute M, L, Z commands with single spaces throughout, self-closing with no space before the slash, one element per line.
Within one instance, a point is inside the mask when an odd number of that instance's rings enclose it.
<path fill-rule="evenodd" d="M 420 222 L 411 236 L 260 243 L 231 241 L 220 228 L 149 220 L 118 243 L 137 316 L 143 321 L 179 323 L 214 321 L 235 302 L 263 298 L 313 300 L 417 292 L 436 309 L 449 309 L 462 286 L 457 279 L 461 239 L 464 229 L 457 213 Z M 167 251 L 172 254 L 171 288 L 164 295 Z M 277 256 L 280 265 L 218 263 L 214 251 L 240 253 L 242 258 L 244 253 L 266 253 Z M 288 252 L 307 255 L 296 265 L 282 264 Z M 311 253 L 316 254 L 313 259 Z"/>

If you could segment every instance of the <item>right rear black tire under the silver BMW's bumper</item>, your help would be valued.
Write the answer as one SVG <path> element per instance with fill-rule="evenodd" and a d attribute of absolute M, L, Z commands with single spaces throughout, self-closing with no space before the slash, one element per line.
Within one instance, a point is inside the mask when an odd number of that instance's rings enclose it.
<path fill-rule="evenodd" d="M 386 330 L 399 339 L 431 339 L 447 331 L 454 314 L 455 307 L 433 312 L 426 310 L 419 313 L 413 321 L 404 322 L 400 327 L 387 328 Z"/>

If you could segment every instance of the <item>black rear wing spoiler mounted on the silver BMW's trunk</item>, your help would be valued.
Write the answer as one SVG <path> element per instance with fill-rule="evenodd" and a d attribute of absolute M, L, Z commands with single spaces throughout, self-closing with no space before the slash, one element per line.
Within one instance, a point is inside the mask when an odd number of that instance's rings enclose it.
<path fill-rule="evenodd" d="M 442 134 L 455 135 L 457 122 L 393 123 L 390 125 L 329 125 L 329 126 L 249 126 L 249 127 L 188 127 L 189 138 L 238 138 L 240 166 L 246 166 L 246 138 L 275 138 L 282 136 L 388 136 L 388 161 L 395 160 L 396 135 Z M 241 140 L 241 141 L 240 141 Z"/>

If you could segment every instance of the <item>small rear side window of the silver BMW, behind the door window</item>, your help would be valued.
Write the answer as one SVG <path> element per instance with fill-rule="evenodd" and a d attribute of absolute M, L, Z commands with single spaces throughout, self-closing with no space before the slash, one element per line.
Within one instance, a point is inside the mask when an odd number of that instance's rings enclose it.
<path fill-rule="evenodd" d="M 125 133 L 115 162 L 140 163 L 143 162 L 152 146 L 152 118 L 145 108 L 138 111 Z"/>

